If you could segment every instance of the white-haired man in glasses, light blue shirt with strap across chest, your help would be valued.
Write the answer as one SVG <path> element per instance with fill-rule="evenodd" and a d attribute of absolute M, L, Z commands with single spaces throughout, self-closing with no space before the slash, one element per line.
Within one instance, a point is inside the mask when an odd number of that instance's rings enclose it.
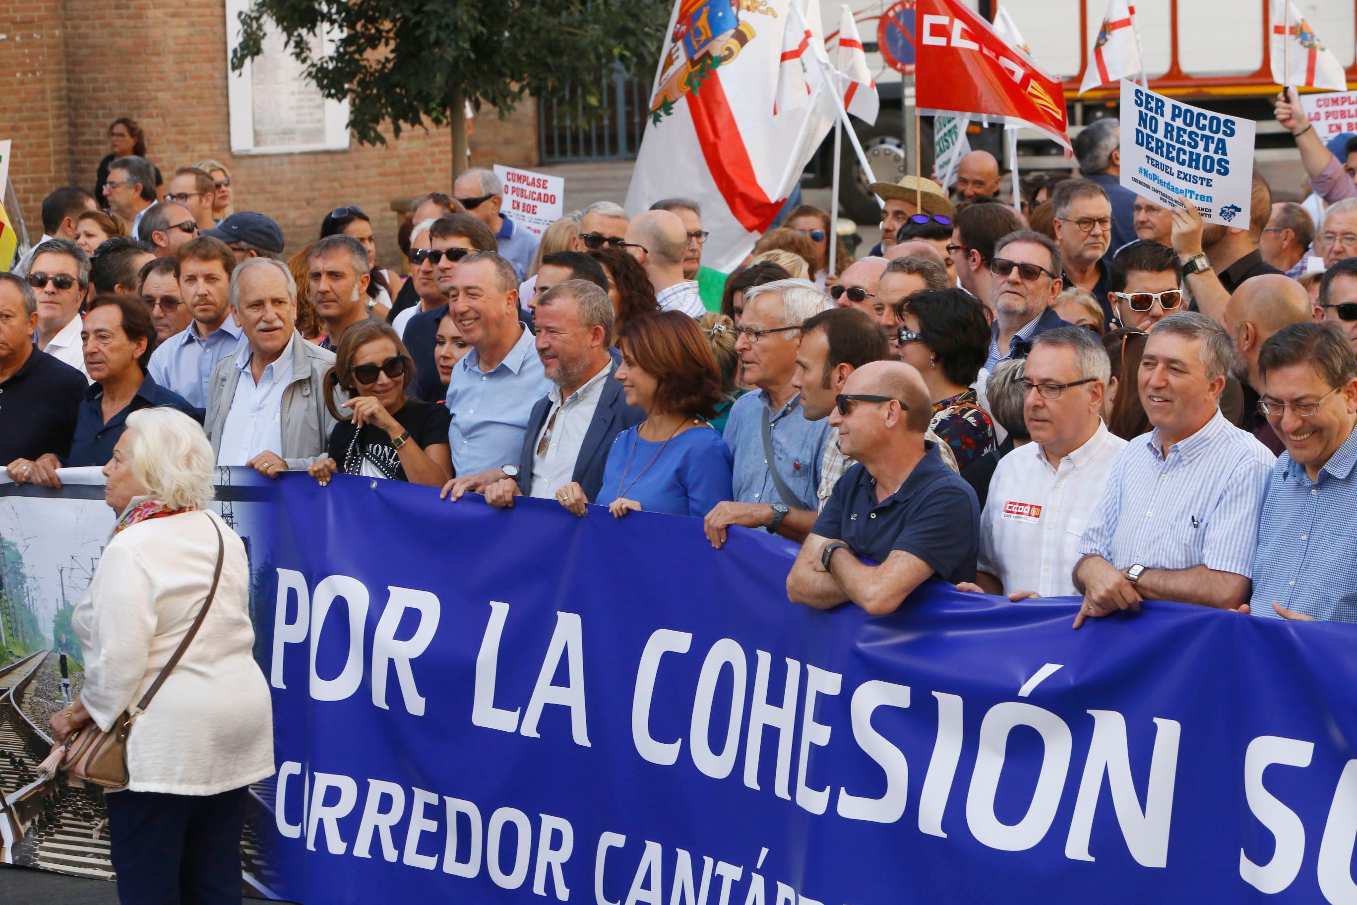
<path fill-rule="evenodd" d="M 745 290 L 735 353 L 745 380 L 759 389 L 737 399 L 726 419 L 723 437 L 734 456 L 735 499 L 718 503 L 704 520 L 707 539 L 718 550 L 730 525 L 763 528 L 798 543 L 816 525 L 829 422 L 806 421 L 792 379 L 801 324 L 830 308 L 829 296 L 805 280 L 778 280 Z"/>

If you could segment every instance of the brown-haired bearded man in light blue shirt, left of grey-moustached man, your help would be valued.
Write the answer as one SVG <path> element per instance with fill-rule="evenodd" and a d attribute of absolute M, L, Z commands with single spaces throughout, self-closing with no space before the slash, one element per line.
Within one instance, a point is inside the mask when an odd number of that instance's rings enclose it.
<path fill-rule="evenodd" d="M 199 236 L 175 252 L 179 297 L 193 313 L 193 322 L 156 347 L 147 373 L 195 408 L 208 407 L 208 381 L 217 362 L 247 345 L 231 316 L 235 267 L 235 254 L 220 239 Z"/>

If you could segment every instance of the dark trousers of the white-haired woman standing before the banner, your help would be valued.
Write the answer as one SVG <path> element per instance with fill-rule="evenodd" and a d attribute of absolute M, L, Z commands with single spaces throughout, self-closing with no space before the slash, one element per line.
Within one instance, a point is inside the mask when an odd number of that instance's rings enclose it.
<path fill-rule="evenodd" d="M 240 905 L 242 786 L 217 795 L 110 792 L 109 845 L 122 905 Z"/>

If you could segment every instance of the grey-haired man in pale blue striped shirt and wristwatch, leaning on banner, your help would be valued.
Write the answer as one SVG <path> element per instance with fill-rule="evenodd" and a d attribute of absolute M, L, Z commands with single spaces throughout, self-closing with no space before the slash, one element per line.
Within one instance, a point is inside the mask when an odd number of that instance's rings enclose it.
<path fill-rule="evenodd" d="M 1075 566 L 1075 619 L 1141 600 L 1238 609 L 1248 602 L 1258 514 L 1274 456 L 1220 414 L 1229 336 L 1196 312 L 1156 323 L 1140 360 L 1153 430 L 1128 444 L 1094 509 Z"/>

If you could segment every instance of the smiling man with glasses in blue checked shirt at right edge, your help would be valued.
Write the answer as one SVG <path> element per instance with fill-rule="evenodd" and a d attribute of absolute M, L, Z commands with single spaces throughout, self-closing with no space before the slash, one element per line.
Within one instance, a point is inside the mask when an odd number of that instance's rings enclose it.
<path fill-rule="evenodd" d="M 1334 324 L 1292 324 L 1258 372 L 1286 452 L 1267 479 L 1251 612 L 1357 623 L 1357 355 Z"/>

